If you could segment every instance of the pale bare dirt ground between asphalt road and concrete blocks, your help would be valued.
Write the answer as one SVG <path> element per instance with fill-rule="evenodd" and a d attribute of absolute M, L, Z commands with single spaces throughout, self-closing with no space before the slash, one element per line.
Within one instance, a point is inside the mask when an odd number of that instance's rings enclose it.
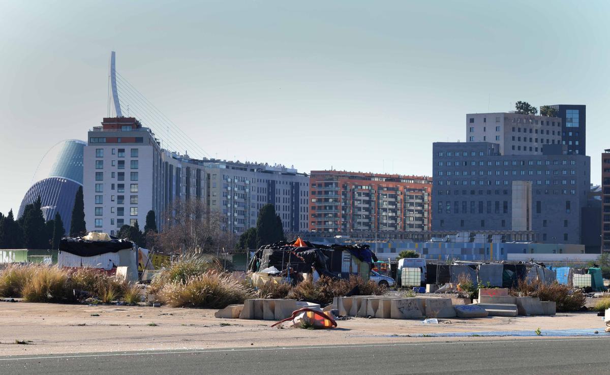
<path fill-rule="evenodd" d="M 59 354 L 158 349 L 210 349 L 295 345 L 403 343 L 439 340 L 417 334 L 473 332 L 472 337 L 442 340 L 493 340 L 486 331 L 531 331 L 537 328 L 601 329 L 595 313 L 517 318 L 452 318 L 439 324 L 421 320 L 351 318 L 329 330 L 271 328 L 273 321 L 217 319 L 216 310 L 62 305 L 0 302 L 0 355 Z M 515 338 L 517 339 L 517 338 Z M 531 337 L 529 337 L 531 339 Z M 19 345 L 15 340 L 31 341 Z"/>

